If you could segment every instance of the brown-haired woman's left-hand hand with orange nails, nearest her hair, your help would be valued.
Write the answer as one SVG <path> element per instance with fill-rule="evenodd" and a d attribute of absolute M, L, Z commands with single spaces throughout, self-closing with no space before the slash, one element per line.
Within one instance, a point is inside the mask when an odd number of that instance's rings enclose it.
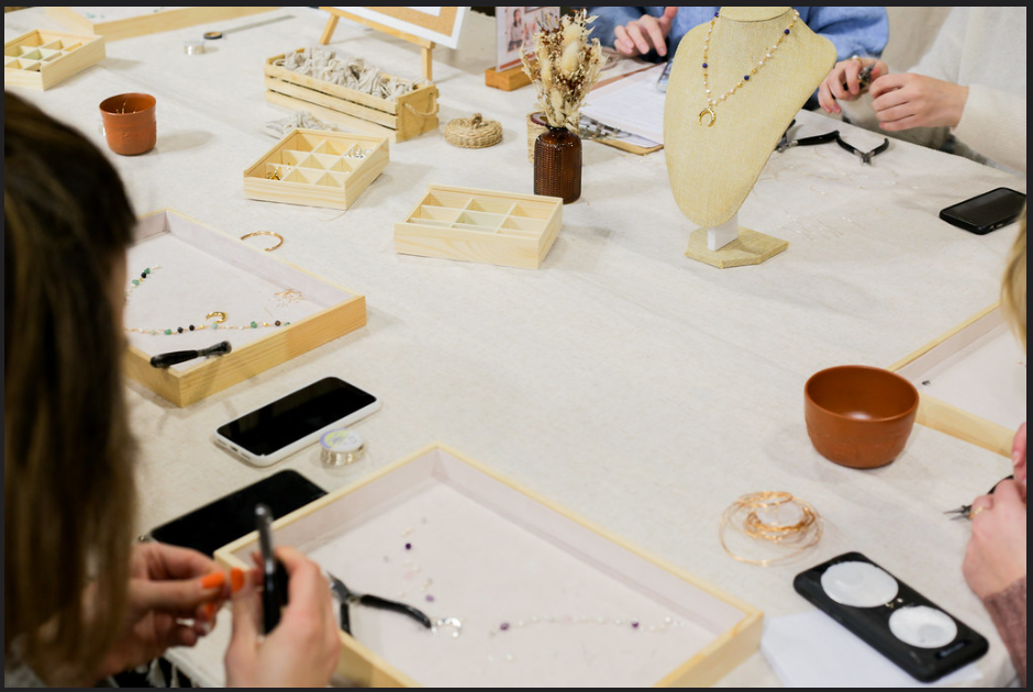
<path fill-rule="evenodd" d="M 97 679 L 145 663 L 169 647 L 193 646 L 211 630 L 216 609 L 229 596 L 225 573 L 197 550 L 135 545 L 122 636 L 101 662 Z"/>

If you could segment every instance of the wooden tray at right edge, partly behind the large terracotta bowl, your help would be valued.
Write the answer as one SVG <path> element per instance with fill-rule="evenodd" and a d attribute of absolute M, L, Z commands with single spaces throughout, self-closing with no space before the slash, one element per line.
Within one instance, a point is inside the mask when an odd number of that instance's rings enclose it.
<path fill-rule="evenodd" d="M 1026 416 L 1026 367 L 1000 303 L 889 369 L 918 388 L 919 423 L 1011 458 Z"/>

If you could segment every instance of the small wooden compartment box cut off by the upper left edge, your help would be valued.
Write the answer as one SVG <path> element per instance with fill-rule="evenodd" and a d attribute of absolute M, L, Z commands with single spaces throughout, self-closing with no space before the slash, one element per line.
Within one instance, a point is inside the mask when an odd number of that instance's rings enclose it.
<path fill-rule="evenodd" d="M 102 59 L 101 36 L 31 31 L 3 44 L 3 86 L 43 91 Z"/>

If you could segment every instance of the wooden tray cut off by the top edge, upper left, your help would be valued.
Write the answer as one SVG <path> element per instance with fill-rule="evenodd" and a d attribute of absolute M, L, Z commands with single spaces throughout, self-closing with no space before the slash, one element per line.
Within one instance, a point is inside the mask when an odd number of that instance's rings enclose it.
<path fill-rule="evenodd" d="M 279 8 L 47 8 L 46 13 L 78 31 L 87 31 L 108 41 L 119 41 L 277 9 Z M 100 10 L 104 12 L 98 12 Z"/>

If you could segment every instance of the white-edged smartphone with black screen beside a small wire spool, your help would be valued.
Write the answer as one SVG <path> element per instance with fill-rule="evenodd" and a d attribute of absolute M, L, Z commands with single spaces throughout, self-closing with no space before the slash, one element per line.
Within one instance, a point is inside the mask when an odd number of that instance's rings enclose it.
<path fill-rule="evenodd" d="M 220 425 L 214 442 L 254 466 L 270 466 L 380 409 L 380 400 L 327 377 Z"/>

